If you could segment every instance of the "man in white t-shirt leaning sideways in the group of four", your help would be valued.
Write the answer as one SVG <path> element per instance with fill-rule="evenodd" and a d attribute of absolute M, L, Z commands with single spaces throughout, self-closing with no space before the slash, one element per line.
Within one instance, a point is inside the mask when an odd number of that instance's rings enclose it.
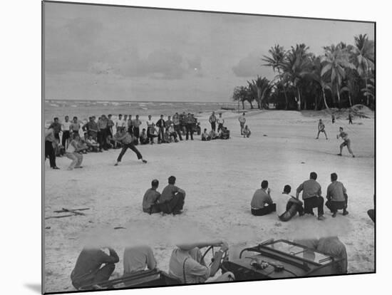
<path fill-rule="evenodd" d="M 299 216 L 304 215 L 304 207 L 302 207 L 302 202 L 289 195 L 291 191 L 292 187 L 285 185 L 282 195 L 277 197 L 275 200 L 275 204 L 277 205 L 277 215 L 282 222 L 287 222 L 292 219 L 296 212 L 299 213 Z"/>

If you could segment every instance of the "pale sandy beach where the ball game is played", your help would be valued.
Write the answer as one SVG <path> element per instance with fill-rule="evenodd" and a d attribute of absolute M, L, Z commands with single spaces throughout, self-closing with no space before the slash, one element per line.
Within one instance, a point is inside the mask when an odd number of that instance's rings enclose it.
<path fill-rule="evenodd" d="M 251 138 L 239 136 L 237 114 L 225 113 L 231 130 L 230 140 L 182 141 L 168 145 L 138 146 L 144 165 L 128 150 L 120 166 L 114 167 L 120 150 L 84 156 L 83 169 L 66 170 L 70 160 L 57 158 L 61 170 L 49 170 L 46 162 L 46 216 L 53 210 L 89 207 L 86 217 L 47 219 L 45 227 L 46 291 L 72 290 L 69 278 L 83 244 L 103 240 L 117 250 L 120 262 L 115 276 L 122 274 L 125 245 L 150 244 L 160 269 L 167 271 L 170 253 L 180 239 L 218 237 L 227 240 L 231 254 L 274 238 L 321 237 L 339 235 L 349 255 L 349 272 L 374 270 L 374 227 L 366 211 L 373 208 L 374 121 L 354 120 L 346 131 L 356 158 L 337 156 L 341 140 L 336 140 L 340 125 L 325 117 L 329 140 L 316 137 L 319 117 L 304 117 L 298 112 L 259 111 L 247 115 Z M 202 128 L 209 128 L 207 114 Z M 263 136 L 267 135 L 267 136 Z M 336 172 L 349 194 L 349 212 L 333 219 L 326 209 L 326 220 L 295 217 L 279 222 L 275 214 L 254 217 L 249 212 L 254 190 L 269 180 L 272 198 L 284 185 L 296 187 L 308 179 L 309 172 L 319 175 L 325 196 L 329 175 Z M 177 186 L 187 192 L 185 212 L 178 216 L 148 215 L 141 202 L 153 178 L 162 190 L 167 177 L 175 175 Z M 125 227 L 126 229 L 113 229 Z"/>

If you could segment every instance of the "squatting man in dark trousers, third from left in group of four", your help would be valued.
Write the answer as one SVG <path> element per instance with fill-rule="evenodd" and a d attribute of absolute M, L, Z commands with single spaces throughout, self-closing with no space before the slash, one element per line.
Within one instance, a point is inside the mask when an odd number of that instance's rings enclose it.
<path fill-rule="evenodd" d="M 317 173 L 310 172 L 310 179 L 306 180 L 299 185 L 296 189 L 296 199 L 299 193 L 302 192 L 302 200 L 304 200 L 304 212 L 307 214 L 313 213 L 313 208 L 317 207 L 319 220 L 324 220 L 324 198 L 321 197 L 321 186 L 316 182 Z"/>

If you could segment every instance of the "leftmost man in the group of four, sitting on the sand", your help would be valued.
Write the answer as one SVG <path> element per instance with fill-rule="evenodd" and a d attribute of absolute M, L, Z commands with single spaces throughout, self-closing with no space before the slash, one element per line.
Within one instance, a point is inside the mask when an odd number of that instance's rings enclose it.
<path fill-rule="evenodd" d="M 277 210 L 277 205 L 272 202 L 271 195 L 269 195 L 270 192 L 271 190 L 268 188 L 268 181 L 263 180 L 262 188 L 254 192 L 252 202 L 250 203 L 253 215 L 262 216 Z"/>

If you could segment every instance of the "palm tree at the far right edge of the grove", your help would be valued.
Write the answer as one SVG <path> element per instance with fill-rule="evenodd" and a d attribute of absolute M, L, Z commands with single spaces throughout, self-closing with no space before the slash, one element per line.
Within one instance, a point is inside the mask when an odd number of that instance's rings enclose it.
<path fill-rule="evenodd" d="M 374 70 L 374 42 L 369 41 L 366 34 L 354 37 L 355 41 L 355 65 L 356 71 L 358 71 L 359 76 L 363 77 L 366 87 L 366 104 L 369 104 L 369 96 L 371 96 L 367 89 L 368 78 L 371 75 L 371 71 Z"/>

